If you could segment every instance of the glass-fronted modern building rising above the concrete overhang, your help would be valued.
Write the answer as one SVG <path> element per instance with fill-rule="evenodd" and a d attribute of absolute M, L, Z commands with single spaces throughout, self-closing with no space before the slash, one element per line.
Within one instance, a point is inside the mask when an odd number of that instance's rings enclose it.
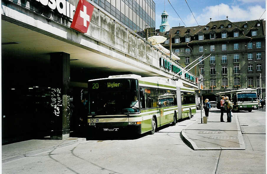
<path fill-rule="evenodd" d="M 152 0 L 91 0 L 132 30 L 144 34 L 155 30 L 155 3 Z"/>

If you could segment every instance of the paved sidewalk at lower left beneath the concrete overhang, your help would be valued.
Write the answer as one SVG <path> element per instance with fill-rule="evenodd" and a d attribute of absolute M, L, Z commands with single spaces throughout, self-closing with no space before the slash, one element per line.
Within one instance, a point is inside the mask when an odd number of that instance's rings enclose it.
<path fill-rule="evenodd" d="M 36 155 L 41 152 L 86 141 L 86 138 L 68 138 L 64 140 L 32 139 L 2 146 L 2 163 Z"/>

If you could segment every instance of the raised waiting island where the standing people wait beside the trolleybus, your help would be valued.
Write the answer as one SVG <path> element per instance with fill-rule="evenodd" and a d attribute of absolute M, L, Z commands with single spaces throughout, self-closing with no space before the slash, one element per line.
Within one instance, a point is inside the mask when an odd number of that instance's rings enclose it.
<path fill-rule="evenodd" d="M 245 150 L 236 113 L 232 113 L 231 123 L 226 122 L 226 113 L 223 115 L 225 122 L 220 122 L 220 110 L 212 108 L 207 124 L 201 124 L 201 119 L 197 119 L 182 130 L 182 139 L 193 150 Z M 205 116 L 205 111 L 202 111 L 202 116 Z"/>

